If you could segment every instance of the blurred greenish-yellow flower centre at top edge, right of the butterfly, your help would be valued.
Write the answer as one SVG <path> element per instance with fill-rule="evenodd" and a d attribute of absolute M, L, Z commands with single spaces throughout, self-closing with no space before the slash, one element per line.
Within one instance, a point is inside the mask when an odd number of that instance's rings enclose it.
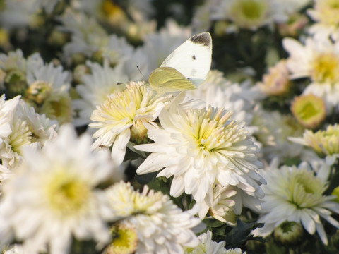
<path fill-rule="evenodd" d="M 266 4 L 258 0 L 236 1 L 231 9 L 231 16 L 238 25 L 247 26 L 258 22 L 266 13 Z"/>

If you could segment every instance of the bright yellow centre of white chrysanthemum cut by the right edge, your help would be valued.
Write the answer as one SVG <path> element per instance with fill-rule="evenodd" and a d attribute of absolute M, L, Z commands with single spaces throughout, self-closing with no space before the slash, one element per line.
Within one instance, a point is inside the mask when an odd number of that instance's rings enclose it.
<path fill-rule="evenodd" d="M 311 79 L 319 83 L 333 83 L 339 80 L 339 57 L 335 54 L 320 54 L 314 59 Z"/>

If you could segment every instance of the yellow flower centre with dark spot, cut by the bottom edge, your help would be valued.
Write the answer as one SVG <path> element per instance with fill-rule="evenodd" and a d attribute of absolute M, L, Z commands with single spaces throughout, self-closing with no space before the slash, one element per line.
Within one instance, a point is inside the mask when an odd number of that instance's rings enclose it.
<path fill-rule="evenodd" d="M 138 243 L 136 230 L 124 225 L 114 226 L 111 229 L 113 241 L 107 248 L 107 254 L 130 254 L 134 253 Z"/>

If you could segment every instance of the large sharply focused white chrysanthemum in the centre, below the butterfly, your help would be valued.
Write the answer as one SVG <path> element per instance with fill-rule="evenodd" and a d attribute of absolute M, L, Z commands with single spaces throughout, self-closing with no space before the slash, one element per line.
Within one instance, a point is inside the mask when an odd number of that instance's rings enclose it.
<path fill-rule="evenodd" d="M 136 145 L 138 150 L 153 152 L 137 169 L 138 174 L 160 171 L 157 176 L 174 176 L 170 194 L 183 192 L 201 202 L 212 193 L 215 182 L 238 186 L 260 193 L 265 180 L 256 173 L 261 163 L 244 122 L 229 121 L 225 109 L 184 109 L 179 95 L 159 116 L 160 128 L 150 128 L 148 137 L 155 143 Z"/>

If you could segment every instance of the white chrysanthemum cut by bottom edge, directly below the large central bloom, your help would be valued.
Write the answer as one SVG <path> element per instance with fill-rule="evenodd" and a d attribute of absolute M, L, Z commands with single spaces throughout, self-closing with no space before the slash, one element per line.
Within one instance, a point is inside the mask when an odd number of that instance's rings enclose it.
<path fill-rule="evenodd" d="M 183 253 L 183 247 L 195 247 L 199 241 L 193 231 L 201 220 L 194 217 L 198 207 L 182 212 L 168 195 L 160 191 L 134 191 L 130 183 L 114 184 L 107 189 L 117 216 L 133 225 L 138 235 L 136 253 Z"/>

